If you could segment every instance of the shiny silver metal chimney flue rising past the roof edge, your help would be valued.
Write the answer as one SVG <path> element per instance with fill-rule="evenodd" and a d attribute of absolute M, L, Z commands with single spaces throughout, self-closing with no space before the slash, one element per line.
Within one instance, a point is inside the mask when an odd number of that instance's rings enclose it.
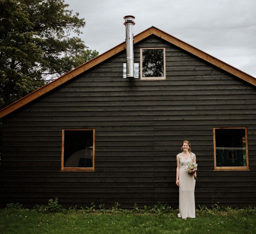
<path fill-rule="evenodd" d="M 133 32 L 132 27 L 135 24 L 135 17 L 132 15 L 124 16 L 125 31 L 126 31 L 126 76 L 127 78 L 134 77 L 134 56 L 133 56 Z"/>

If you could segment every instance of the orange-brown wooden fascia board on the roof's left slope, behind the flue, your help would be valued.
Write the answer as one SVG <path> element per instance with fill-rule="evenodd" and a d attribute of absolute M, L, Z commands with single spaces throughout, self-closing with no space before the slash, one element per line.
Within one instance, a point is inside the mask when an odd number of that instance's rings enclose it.
<path fill-rule="evenodd" d="M 145 31 L 139 33 L 138 35 L 134 36 L 134 44 L 145 39 L 147 36 L 153 34 L 153 28 L 146 29 Z M 99 63 L 105 61 L 106 59 L 111 58 L 113 55 L 125 50 L 126 44 L 125 42 L 117 45 L 116 47 L 110 49 L 109 51 L 97 56 L 96 58 L 91 59 L 90 61 L 80 65 L 77 68 L 74 68 L 72 71 L 60 76 L 56 80 L 47 83 L 46 85 L 42 86 L 41 88 L 35 90 L 32 93 L 24 96 L 23 98 L 13 102 L 9 106 L 0 110 L 0 118 L 8 115 L 9 113 L 19 109 L 20 107 L 26 105 L 27 103 L 37 99 L 38 97 L 42 96 L 43 94 L 51 91 L 52 89 L 58 87 L 59 85 L 71 80 L 72 78 L 76 77 L 77 75 L 87 71 L 88 69 L 98 65 Z"/>

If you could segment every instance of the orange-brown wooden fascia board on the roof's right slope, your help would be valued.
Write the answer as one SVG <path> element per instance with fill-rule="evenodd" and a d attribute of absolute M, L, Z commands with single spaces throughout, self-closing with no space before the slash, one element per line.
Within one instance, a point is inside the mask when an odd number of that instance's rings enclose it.
<path fill-rule="evenodd" d="M 181 49 L 184 49 L 185 51 L 188 51 L 189 53 L 221 68 L 222 70 L 231 73 L 232 75 L 237 76 L 238 78 L 247 81 L 248 83 L 256 86 L 256 78 L 254 78 L 253 76 L 244 73 L 242 71 L 240 71 L 239 69 L 232 67 L 231 65 L 229 65 L 228 63 L 225 63 L 217 58 L 215 58 L 214 56 L 211 56 L 203 51 L 201 51 L 200 49 L 197 49 L 196 47 L 193 47 L 187 43 L 185 43 L 184 41 L 181 41 L 173 36 L 171 36 L 168 33 L 165 33 L 163 31 L 161 31 L 158 28 L 153 28 L 153 34 L 159 36 L 160 38 L 172 43 L 173 45 L 178 46 Z"/>

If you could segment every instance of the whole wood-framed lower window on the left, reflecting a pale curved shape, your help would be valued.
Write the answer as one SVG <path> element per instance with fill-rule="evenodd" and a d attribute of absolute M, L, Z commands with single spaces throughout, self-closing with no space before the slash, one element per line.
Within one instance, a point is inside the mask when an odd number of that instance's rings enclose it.
<path fill-rule="evenodd" d="M 95 129 L 63 129 L 61 171 L 94 171 Z"/>

